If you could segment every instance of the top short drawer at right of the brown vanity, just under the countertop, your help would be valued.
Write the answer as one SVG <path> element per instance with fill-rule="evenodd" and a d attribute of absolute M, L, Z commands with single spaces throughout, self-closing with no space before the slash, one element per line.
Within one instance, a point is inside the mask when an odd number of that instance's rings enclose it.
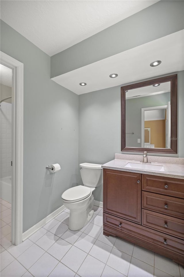
<path fill-rule="evenodd" d="M 146 174 L 143 174 L 142 177 L 143 190 L 184 198 L 183 179 Z"/>

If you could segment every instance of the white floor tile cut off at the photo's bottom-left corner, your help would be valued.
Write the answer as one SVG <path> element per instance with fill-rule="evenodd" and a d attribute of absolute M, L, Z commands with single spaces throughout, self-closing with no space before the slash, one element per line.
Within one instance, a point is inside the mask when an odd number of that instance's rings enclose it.
<path fill-rule="evenodd" d="M 1 271 L 2 277 L 20 277 L 26 272 L 25 267 L 23 267 L 18 261 L 13 261 L 5 269 Z"/>

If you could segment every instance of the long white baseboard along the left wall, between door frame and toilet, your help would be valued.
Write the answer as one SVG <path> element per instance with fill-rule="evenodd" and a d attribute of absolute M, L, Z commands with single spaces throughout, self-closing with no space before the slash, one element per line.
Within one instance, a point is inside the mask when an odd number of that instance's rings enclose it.
<path fill-rule="evenodd" d="M 64 205 L 62 205 L 60 208 L 58 208 L 57 210 L 55 210 L 54 212 L 52 212 L 51 214 L 49 214 L 48 216 L 46 216 L 45 218 L 43 218 L 41 221 L 39 221 L 37 224 L 35 224 L 34 226 L 32 226 L 30 229 L 28 229 L 27 231 L 25 231 L 22 234 L 22 241 L 26 240 L 28 237 L 30 237 L 31 235 L 33 235 L 36 231 L 38 231 L 41 227 L 43 227 L 46 223 L 48 223 L 49 221 L 51 221 L 53 218 L 55 218 L 56 216 L 58 216 L 61 212 L 63 212 L 65 209 Z"/>

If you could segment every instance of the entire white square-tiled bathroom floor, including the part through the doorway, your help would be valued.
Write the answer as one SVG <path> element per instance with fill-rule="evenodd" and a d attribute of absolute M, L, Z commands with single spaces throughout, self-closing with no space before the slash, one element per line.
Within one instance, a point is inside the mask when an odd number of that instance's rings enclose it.
<path fill-rule="evenodd" d="M 11 245 L 11 205 L 1 200 L 1 277 L 183 277 L 170 259 L 102 230 L 102 209 L 79 231 L 68 229 L 69 211 L 18 246 Z"/>

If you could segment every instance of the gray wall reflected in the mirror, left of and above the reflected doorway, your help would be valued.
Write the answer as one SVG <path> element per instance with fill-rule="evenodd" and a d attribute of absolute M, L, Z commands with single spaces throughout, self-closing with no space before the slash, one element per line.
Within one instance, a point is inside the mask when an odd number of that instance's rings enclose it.
<path fill-rule="evenodd" d="M 152 96 L 131 98 L 126 100 L 126 135 L 127 147 L 141 147 L 137 139 L 141 139 L 141 108 L 167 105 L 170 101 L 170 92 Z"/>

